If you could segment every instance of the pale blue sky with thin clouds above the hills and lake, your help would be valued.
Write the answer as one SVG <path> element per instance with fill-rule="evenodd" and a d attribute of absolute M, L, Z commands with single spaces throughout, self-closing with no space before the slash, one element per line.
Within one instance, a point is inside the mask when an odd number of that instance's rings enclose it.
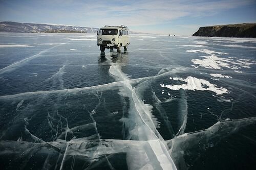
<path fill-rule="evenodd" d="M 0 21 L 192 35 L 204 26 L 256 23 L 256 0 L 0 0 Z"/>

